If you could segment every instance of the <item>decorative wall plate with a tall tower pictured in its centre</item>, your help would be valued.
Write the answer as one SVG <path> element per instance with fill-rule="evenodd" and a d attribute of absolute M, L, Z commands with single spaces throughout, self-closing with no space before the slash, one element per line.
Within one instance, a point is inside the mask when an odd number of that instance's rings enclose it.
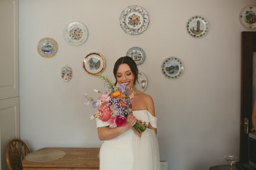
<path fill-rule="evenodd" d="M 200 38 L 208 33 L 209 24 L 204 17 L 196 15 L 189 19 L 186 29 L 192 37 Z"/>

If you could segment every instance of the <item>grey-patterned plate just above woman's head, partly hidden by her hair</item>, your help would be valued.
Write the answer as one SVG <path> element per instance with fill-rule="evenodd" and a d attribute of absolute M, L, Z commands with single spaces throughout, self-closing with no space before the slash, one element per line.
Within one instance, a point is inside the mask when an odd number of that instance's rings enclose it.
<path fill-rule="evenodd" d="M 131 57 L 136 62 L 136 65 L 142 64 L 145 60 L 145 52 L 140 47 L 130 48 L 126 55 Z"/>

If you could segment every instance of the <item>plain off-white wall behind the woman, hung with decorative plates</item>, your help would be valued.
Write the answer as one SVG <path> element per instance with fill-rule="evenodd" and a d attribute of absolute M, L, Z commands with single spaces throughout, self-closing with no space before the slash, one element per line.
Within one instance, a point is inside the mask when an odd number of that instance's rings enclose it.
<path fill-rule="evenodd" d="M 255 0 L 20 0 L 19 71 L 20 136 L 30 147 L 100 147 L 94 110 L 84 105 L 87 91 L 102 89 L 99 79 L 82 68 L 84 56 L 105 57 L 102 73 L 114 80 L 113 64 L 129 48 L 139 46 L 146 58 L 139 70 L 148 79 L 145 93 L 155 103 L 160 159 L 169 170 L 207 170 L 227 164 L 225 154 L 239 155 L 242 8 Z M 119 16 L 130 5 L 145 8 L 149 26 L 130 35 Z M 209 33 L 195 39 L 186 22 L 201 15 Z M 64 27 L 73 21 L 87 26 L 89 36 L 80 46 L 67 44 Z M 44 37 L 58 43 L 52 58 L 41 57 L 37 44 Z M 167 57 L 180 58 L 185 71 L 167 79 L 161 65 Z M 70 82 L 61 68 L 73 68 Z"/>

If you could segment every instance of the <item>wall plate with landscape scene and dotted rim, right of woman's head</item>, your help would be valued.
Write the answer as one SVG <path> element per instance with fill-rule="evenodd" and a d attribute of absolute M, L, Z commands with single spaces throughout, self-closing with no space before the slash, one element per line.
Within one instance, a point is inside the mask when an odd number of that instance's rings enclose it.
<path fill-rule="evenodd" d="M 162 72 L 169 79 L 177 79 L 184 71 L 182 61 L 176 57 L 167 58 L 162 65 Z"/>

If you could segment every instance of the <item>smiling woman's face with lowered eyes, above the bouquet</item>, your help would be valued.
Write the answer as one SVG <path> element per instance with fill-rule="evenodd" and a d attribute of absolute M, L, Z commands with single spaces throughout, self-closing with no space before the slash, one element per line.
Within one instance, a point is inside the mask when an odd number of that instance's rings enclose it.
<path fill-rule="evenodd" d="M 128 64 L 120 64 L 116 71 L 116 80 L 119 85 L 125 83 L 126 87 L 134 88 L 134 74 Z"/>

